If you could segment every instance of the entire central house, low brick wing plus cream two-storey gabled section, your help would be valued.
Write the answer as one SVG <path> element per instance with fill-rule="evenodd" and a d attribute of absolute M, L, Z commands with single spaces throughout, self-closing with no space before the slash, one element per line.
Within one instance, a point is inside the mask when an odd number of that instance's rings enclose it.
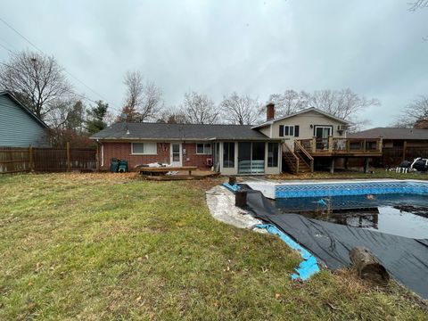
<path fill-rule="evenodd" d="M 274 116 L 275 105 L 268 103 L 267 120 L 257 126 L 116 123 L 91 139 L 99 144 L 101 169 L 108 169 L 111 158 L 117 158 L 128 160 L 130 168 L 161 162 L 213 168 L 223 175 L 278 174 L 283 156 L 284 166 L 299 172 L 305 167 L 313 170 L 317 158 L 373 152 L 347 144 L 349 123 L 325 111 L 309 108 Z"/>

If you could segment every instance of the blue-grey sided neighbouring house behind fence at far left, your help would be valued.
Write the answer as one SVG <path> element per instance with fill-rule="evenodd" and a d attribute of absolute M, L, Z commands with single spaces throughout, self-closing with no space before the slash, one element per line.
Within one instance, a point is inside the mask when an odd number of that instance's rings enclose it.
<path fill-rule="evenodd" d="M 47 125 L 10 92 L 0 92 L 0 146 L 49 146 Z"/>

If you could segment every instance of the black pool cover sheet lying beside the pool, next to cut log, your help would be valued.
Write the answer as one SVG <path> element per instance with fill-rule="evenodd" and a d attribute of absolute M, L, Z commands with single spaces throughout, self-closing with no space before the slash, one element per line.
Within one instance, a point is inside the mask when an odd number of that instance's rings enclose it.
<path fill-rule="evenodd" d="M 256 218 L 275 225 L 323 262 L 327 268 L 350 265 L 349 252 L 364 246 L 392 277 L 428 299 L 428 239 L 411 239 L 358 227 L 342 226 L 299 214 L 278 214 L 259 191 L 248 189 L 247 206 Z"/>

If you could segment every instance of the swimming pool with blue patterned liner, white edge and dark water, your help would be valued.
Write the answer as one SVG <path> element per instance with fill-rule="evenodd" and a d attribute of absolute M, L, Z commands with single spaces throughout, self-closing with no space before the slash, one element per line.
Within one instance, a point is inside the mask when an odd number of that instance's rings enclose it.
<path fill-rule="evenodd" d="M 297 213 L 392 235 L 428 238 L 428 182 L 420 180 L 251 182 L 275 199 L 280 213 Z"/>

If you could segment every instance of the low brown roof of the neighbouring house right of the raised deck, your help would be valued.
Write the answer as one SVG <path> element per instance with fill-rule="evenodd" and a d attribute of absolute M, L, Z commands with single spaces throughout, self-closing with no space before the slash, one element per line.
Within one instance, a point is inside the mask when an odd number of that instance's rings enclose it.
<path fill-rule="evenodd" d="M 371 128 L 358 133 L 349 134 L 350 138 L 377 138 L 418 140 L 428 139 L 428 129 L 416 128 Z"/>

